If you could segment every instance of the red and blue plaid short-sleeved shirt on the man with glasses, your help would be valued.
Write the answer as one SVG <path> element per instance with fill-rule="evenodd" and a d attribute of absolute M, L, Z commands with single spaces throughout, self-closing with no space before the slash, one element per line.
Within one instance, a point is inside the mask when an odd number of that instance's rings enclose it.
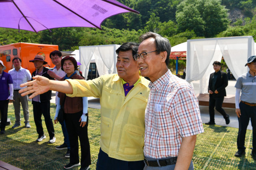
<path fill-rule="evenodd" d="M 191 85 L 170 70 L 148 87 L 144 155 L 175 157 L 183 137 L 204 132 L 198 100 Z"/>

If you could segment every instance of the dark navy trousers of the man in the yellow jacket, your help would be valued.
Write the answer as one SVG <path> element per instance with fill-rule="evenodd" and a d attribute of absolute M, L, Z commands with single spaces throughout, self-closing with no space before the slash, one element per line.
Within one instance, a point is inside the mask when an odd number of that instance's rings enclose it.
<path fill-rule="evenodd" d="M 143 170 L 144 166 L 144 160 L 124 161 L 110 158 L 100 148 L 96 170 Z"/>

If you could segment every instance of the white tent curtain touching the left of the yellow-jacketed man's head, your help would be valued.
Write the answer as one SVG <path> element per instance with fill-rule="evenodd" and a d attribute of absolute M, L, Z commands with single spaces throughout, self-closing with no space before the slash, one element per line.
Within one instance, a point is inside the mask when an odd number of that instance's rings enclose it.
<path fill-rule="evenodd" d="M 114 46 L 101 46 L 98 47 L 100 57 L 108 68 L 108 74 L 114 71 Z"/>

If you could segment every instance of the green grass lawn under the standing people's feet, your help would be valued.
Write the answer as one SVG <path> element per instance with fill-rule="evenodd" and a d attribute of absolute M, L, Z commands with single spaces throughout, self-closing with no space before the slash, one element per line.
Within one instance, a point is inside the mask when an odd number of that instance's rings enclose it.
<path fill-rule="evenodd" d="M 31 103 L 31 102 L 29 102 Z M 15 121 L 14 107 L 8 108 L 8 118 Z M 51 104 L 52 119 L 56 106 Z M 66 150 L 56 150 L 55 147 L 63 143 L 63 134 L 60 124 L 54 125 L 56 142 L 48 144 L 49 136 L 43 120 L 46 139 L 35 142 L 38 137 L 34 124 L 33 108 L 29 104 L 31 128 L 22 126 L 12 129 L 12 125 L 6 127 L 6 134 L 0 136 L 0 160 L 24 170 L 63 170 L 63 166 L 69 163 L 65 158 Z M 194 167 L 197 170 L 256 170 L 256 161 L 250 156 L 252 147 L 252 130 L 246 134 L 246 156 L 236 158 L 236 138 L 238 129 L 222 126 L 204 125 L 204 133 L 198 134 L 193 155 Z M 91 170 L 96 169 L 96 162 L 100 142 L 100 110 L 89 109 L 88 136 L 91 148 Z M 80 167 L 72 168 L 72 170 Z"/>

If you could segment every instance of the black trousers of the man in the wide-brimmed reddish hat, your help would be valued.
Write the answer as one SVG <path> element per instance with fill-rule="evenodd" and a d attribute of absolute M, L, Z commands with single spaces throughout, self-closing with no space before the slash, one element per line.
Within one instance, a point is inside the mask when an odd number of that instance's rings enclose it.
<path fill-rule="evenodd" d="M 50 101 L 36 102 L 33 101 L 33 112 L 34 121 L 36 124 L 36 131 L 39 136 L 44 134 L 44 129 L 42 126 L 42 114 L 44 116 L 44 121 L 46 128 L 49 133 L 50 139 L 54 136 L 54 127 L 52 123 L 52 118 L 50 115 Z"/>

